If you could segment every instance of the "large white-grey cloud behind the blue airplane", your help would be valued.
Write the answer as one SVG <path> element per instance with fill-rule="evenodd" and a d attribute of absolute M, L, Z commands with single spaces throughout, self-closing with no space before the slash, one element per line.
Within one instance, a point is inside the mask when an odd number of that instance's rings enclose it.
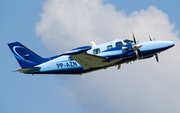
<path fill-rule="evenodd" d="M 178 113 L 180 112 L 180 77 L 178 31 L 168 15 L 150 6 L 129 16 L 115 11 L 101 0 L 49 0 L 43 4 L 36 33 L 45 47 L 62 53 L 90 41 L 103 43 L 116 38 L 140 41 L 173 40 L 176 46 L 155 58 L 68 78 L 69 88 L 86 112 Z M 68 95 L 67 97 L 68 98 Z"/>

